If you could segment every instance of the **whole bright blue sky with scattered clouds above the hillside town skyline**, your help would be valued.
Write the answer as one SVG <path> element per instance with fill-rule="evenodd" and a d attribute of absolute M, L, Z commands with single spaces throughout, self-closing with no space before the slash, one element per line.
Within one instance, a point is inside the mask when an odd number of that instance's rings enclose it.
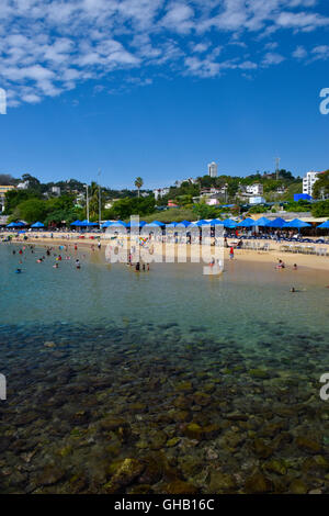
<path fill-rule="evenodd" d="M 1 0 L 0 172 L 113 188 L 329 168 L 327 0 Z"/>

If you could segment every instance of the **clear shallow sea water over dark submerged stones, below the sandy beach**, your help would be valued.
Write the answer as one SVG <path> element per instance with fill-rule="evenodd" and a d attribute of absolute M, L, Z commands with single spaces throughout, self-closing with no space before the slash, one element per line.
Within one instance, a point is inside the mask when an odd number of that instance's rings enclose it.
<path fill-rule="evenodd" d="M 238 261 L 220 278 L 136 273 L 99 251 L 56 270 L 37 249 L 15 274 L 12 249 L 0 247 L 3 492 L 328 492 L 326 274 Z M 123 481 L 131 458 L 144 472 Z"/>

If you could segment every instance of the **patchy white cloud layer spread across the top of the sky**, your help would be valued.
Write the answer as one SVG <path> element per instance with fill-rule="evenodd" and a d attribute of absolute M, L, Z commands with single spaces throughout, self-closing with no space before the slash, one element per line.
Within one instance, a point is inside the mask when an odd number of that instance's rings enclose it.
<path fill-rule="evenodd" d="M 146 85 L 151 74 L 207 78 L 280 65 L 286 54 L 281 32 L 295 38 L 329 26 L 316 0 L 0 2 L 0 87 L 10 91 L 11 105 L 39 102 L 116 70 L 129 85 Z M 300 42 L 291 58 L 327 59 L 327 46 L 317 41 L 310 51 Z M 148 79 L 132 79 L 133 71 Z"/>

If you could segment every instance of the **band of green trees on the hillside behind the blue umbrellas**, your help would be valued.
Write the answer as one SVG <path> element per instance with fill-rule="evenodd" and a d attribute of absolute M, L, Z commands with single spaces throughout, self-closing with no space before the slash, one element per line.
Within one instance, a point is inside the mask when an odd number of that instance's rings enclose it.
<path fill-rule="evenodd" d="M 70 179 L 68 181 L 58 181 L 42 183 L 37 178 L 24 173 L 21 179 L 14 179 L 10 175 L 0 175 L 0 183 L 16 186 L 19 182 L 29 183 L 25 190 L 11 190 L 5 194 L 4 214 L 10 216 L 11 221 L 23 220 L 27 223 L 36 221 L 45 225 L 70 224 L 76 218 L 86 218 L 86 186 L 80 181 Z M 263 184 L 264 198 L 266 203 L 275 205 L 246 205 L 243 199 L 243 187 L 259 182 Z M 169 193 L 158 201 L 155 201 L 152 192 L 141 190 L 144 181 L 140 177 L 136 178 L 136 190 L 112 190 L 101 188 L 101 215 L 102 220 L 124 220 L 127 221 L 132 215 L 139 215 L 140 218 L 152 222 L 180 222 L 184 218 L 224 218 L 228 215 L 239 215 L 247 210 L 250 214 L 272 211 L 276 213 L 280 204 L 285 202 L 284 209 L 287 212 L 310 212 L 315 216 L 329 216 L 328 202 L 310 203 L 308 201 L 294 202 L 294 194 L 302 192 L 302 180 L 295 178 L 290 171 L 280 170 L 279 179 L 274 173 L 252 173 L 246 178 L 230 177 L 222 175 L 216 178 L 209 176 L 200 177 L 196 180 L 186 180 L 181 184 L 177 182 L 169 190 Z M 60 188 L 60 195 L 53 193 L 53 187 Z M 209 189 L 217 189 L 219 202 L 223 204 L 234 204 L 235 207 L 223 207 L 220 205 L 209 206 L 201 197 L 203 190 L 209 192 Z M 279 191 L 277 191 L 279 189 Z M 284 193 L 280 193 L 280 189 Z M 91 182 L 88 188 L 89 193 L 89 215 L 92 222 L 99 220 L 99 184 Z M 315 183 L 315 195 L 318 199 L 329 194 L 329 170 L 321 176 Z M 178 209 L 164 210 L 168 201 L 171 200 L 178 204 Z M 105 209 L 106 202 L 112 202 L 111 209 Z M 163 207 L 163 210 L 161 210 Z"/>

